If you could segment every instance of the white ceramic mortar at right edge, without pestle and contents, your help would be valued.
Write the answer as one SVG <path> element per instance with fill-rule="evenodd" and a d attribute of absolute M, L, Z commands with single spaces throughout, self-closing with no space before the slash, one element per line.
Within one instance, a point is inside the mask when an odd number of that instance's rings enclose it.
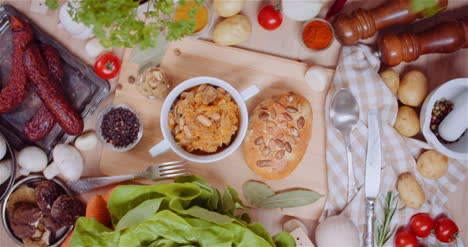
<path fill-rule="evenodd" d="M 432 108 L 437 100 L 442 98 L 453 100 L 465 90 L 468 90 L 468 78 L 454 79 L 442 84 L 427 96 L 421 108 L 421 115 L 419 117 L 421 130 L 426 141 L 434 146 L 434 148 L 440 153 L 459 160 L 468 159 L 468 133 L 465 133 L 460 140 L 455 143 L 444 144 L 441 143 L 431 131 L 430 124 Z"/>

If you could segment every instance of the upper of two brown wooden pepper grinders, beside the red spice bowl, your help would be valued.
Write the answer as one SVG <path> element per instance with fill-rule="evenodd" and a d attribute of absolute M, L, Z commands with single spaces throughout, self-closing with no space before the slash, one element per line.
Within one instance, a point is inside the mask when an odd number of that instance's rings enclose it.
<path fill-rule="evenodd" d="M 427 9 L 411 11 L 412 1 L 415 0 L 389 0 L 375 9 L 358 9 L 350 16 L 340 15 L 333 23 L 336 38 L 343 45 L 352 45 L 373 36 L 380 29 L 423 18 Z M 438 6 L 433 8 L 441 11 L 447 8 L 447 4 L 448 0 L 438 0 Z"/>

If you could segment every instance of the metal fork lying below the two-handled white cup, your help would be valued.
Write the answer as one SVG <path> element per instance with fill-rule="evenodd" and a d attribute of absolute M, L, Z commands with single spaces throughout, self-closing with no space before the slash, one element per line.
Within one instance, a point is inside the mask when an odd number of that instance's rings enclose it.
<path fill-rule="evenodd" d="M 126 180 L 133 180 L 137 178 L 146 178 L 149 180 L 163 180 L 167 178 L 192 174 L 190 168 L 184 162 L 185 161 L 171 161 L 156 164 L 147 167 L 142 172 L 129 175 L 83 178 L 77 181 L 68 182 L 67 185 L 74 193 L 81 194 L 105 185 L 118 183 Z"/>

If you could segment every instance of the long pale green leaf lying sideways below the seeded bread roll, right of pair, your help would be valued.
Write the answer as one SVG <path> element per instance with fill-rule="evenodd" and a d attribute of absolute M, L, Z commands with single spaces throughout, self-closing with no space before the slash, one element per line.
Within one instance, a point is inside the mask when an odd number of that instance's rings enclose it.
<path fill-rule="evenodd" d="M 322 197 L 312 190 L 293 190 L 266 198 L 256 206 L 259 208 L 294 208 L 314 203 Z"/>

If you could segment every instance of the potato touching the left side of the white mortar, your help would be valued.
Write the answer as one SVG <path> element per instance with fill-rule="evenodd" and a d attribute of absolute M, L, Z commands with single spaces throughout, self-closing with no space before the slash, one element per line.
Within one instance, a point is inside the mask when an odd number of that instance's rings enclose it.
<path fill-rule="evenodd" d="M 400 107 L 398 109 L 397 119 L 393 128 L 403 136 L 415 136 L 421 129 L 418 114 L 409 106 Z"/>

